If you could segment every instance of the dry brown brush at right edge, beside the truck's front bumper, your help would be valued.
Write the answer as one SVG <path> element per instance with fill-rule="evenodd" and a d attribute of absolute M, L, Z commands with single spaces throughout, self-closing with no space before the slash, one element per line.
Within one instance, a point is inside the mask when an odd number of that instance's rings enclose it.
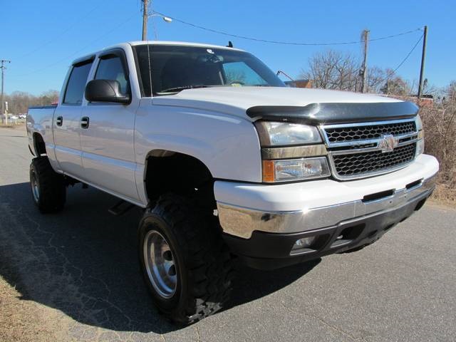
<path fill-rule="evenodd" d="M 437 157 L 440 172 L 434 198 L 456 204 L 456 99 L 420 109 L 425 152 Z"/>

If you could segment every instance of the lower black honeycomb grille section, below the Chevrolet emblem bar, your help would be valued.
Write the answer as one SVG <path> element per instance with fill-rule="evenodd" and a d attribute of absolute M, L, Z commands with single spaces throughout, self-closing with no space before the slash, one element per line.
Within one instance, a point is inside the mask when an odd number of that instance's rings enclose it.
<path fill-rule="evenodd" d="M 335 171 L 340 177 L 351 177 L 388 172 L 411 162 L 415 157 L 416 143 L 396 147 L 392 152 L 372 151 L 333 155 Z"/>

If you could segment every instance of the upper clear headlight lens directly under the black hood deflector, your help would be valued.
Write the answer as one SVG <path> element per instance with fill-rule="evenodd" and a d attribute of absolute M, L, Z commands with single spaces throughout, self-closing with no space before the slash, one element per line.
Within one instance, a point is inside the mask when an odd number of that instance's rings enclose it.
<path fill-rule="evenodd" d="M 262 147 L 284 145 L 306 145 L 321 142 L 320 134 L 314 126 L 295 123 L 255 123 Z"/>

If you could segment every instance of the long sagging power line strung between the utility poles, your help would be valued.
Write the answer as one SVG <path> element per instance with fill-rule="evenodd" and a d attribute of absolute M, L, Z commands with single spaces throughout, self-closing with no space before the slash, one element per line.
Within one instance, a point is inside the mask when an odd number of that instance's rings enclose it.
<path fill-rule="evenodd" d="M 292 42 L 292 41 L 271 41 L 269 39 L 254 38 L 254 37 L 249 37 L 249 36 L 240 36 L 238 34 L 233 34 L 233 33 L 228 33 L 228 32 L 224 32 L 224 31 L 214 30 L 213 28 L 207 28 L 207 27 L 200 26 L 200 25 L 197 25 L 197 24 L 192 24 L 192 23 L 189 23 L 188 21 L 183 21 L 181 19 L 177 19 L 177 18 L 175 18 L 173 16 L 168 16 L 168 15 L 162 14 L 162 13 L 157 12 L 157 11 L 154 11 L 153 13 L 160 14 L 161 16 L 166 16 L 167 18 L 171 18 L 173 21 L 180 22 L 181 24 L 185 24 L 187 26 L 192 26 L 192 27 L 195 27 L 195 28 L 199 28 L 199 29 L 204 30 L 204 31 L 209 31 L 209 32 L 212 32 L 212 33 L 217 33 L 217 34 L 222 34 L 224 36 L 229 36 L 229 37 L 234 37 L 234 38 L 247 39 L 249 41 L 259 41 L 259 42 L 262 42 L 262 43 L 272 43 L 272 44 L 282 44 L 282 45 L 297 45 L 297 46 L 333 46 L 333 45 L 351 45 L 351 44 L 361 43 L 361 41 L 345 41 L 345 42 L 333 42 L 333 43 L 301 43 L 301 42 Z M 390 36 L 383 36 L 383 37 L 373 38 L 373 39 L 370 39 L 369 41 L 381 41 L 381 40 L 384 40 L 384 39 L 390 39 L 390 38 L 395 38 L 395 37 L 398 37 L 398 36 L 404 36 L 405 34 L 410 34 L 410 33 L 414 33 L 416 31 L 421 31 L 421 30 L 422 30 L 422 28 L 415 28 L 414 30 L 405 31 L 405 32 L 401 32 L 401 33 L 396 33 L 396 34 L 392 34 Z"/>

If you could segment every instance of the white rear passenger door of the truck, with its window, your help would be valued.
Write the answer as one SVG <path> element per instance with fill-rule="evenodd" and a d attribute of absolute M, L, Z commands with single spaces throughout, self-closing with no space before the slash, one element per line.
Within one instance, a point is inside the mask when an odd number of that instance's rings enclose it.
<path fill-rule="evenodd" d="M 63 172 L 83 178 L 81 151 L 81 112 L 87 78 L 95 56 L 83 58 L 71 66 L 63 95 L 53 115 L 56 159 Z"/>

